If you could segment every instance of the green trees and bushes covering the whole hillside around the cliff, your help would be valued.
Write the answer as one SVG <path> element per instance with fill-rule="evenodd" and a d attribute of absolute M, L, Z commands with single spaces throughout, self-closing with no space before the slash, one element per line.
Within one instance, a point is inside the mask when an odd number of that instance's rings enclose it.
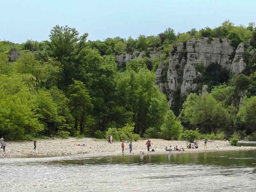
<path fill-rule="evenodd" d="M 214 29 L 178 34 L 168 28 L 137 39 L 86 41 L 87 36 L 75 28 L 55 26 L 49 41 L 0 41 L 0 134 L 10 140 L 50 134 L 256 140 L 254 23 L 244 27 L 225 21 Z M 175 117 L 155 85 L 155 70 L 178 42 L 202 37 L 228 38 L 234 47 L 243 42 L 247 68 L 221 84 L 204 77 L 209 93 L 191 93 Z M 116 54 L 147 55 L 150 50 L 163 52 L 163 57 L 153 62 L 147 57 L 131 60 L 126 66 L 115 62 Z"/>

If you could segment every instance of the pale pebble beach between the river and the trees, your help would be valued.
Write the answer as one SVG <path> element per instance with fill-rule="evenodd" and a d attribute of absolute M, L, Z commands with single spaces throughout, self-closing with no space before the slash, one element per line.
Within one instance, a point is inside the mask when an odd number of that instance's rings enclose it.
<path fill-rule="evenodd" d="M 132 153 L 129 153 L 129 142 L 125 142 L 124 154 L 122 154 L 121 142 L 114 141 L 112 144 L 107 140 L 94 138 L 68 138 L 68 139 L 42 139 L 37 140 L 37 148 L 34 150 L 34 141 L 10 141 L 7 142 L 6 151 L 0 150 L 0 158 L 43 158 L 43 157 L 108 157 L 108 156 L 130 156 L 140 155 L 165 155 L 165 154 L 189 154 L 189 153 L 210 153 L 217 151 L 239 151 L 256 150 L 256 147 L 230 146 L 227 141 L 213 141 L 207 143 L 204 149 L 203 141 L 198 141 L 198 149 L 187 149 L 186 141 L 168 141 L 163 139 L 151 139 L 151 148 L 147 151 L 147 140 L 139 140 L 133 143 Z M 83 146 L 83 143 L 85 146 Z M 185 151 L 165 151 L 165 147 L 178 146 L 185 148 Z"/>

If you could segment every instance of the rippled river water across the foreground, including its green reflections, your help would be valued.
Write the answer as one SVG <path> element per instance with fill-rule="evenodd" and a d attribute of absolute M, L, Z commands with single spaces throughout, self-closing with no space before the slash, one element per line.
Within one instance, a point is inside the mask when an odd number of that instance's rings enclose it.
<path fill-rule="evenodd" d="M 0 159 L 1 191 L 256 191 L 256 150 Z"/>

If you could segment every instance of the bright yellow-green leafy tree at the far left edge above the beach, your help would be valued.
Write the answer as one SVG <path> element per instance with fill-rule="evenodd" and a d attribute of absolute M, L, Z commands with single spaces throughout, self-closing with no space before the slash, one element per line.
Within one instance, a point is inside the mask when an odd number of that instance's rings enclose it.
<path fill-rule="evenodd" d="M 36 114 L 36 95 L 22 79 L 24 75 L 0 75 L 0 133 L 6 139 L 26 139 L 44 125 Z"/>

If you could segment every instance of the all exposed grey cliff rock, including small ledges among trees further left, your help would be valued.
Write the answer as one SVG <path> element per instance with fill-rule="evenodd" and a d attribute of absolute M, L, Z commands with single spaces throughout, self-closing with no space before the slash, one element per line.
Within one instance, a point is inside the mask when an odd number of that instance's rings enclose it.
<path fill-rule="evenodd" d="M 168 103 L 172 107 L 180 108 L 182 98 L 186 98 L 191 92 L 198 91 L 197 86 L 202 76 L 197 70 L 198 65 L 206 69 L 214 64 L 234 74 L 241 73 L 246 67 L 243 61 L 244 44 L 239 44 L 235 50 L 228 39 L 191 40 L 187 43 L 179 43 L 174 50 L 170 51 L 172 54 L 168 65 L 161 63 L 156 70 L 156 84 L 166 94 Z M 125 55 L 121 61 L 121 56 L 119 55 L 116 60 L 123 65 L 135 59 L 132 55 Z"/>

